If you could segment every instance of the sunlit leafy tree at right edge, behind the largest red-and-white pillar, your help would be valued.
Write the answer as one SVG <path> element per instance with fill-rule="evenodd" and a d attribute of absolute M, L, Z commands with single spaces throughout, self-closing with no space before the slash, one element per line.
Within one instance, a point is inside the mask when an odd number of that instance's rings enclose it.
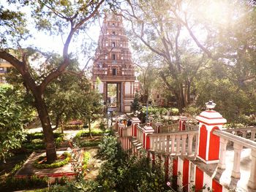
<path fill-rule="evenodd" d="M 217 110 L 234 123 L 243 115 L 255 114 L 256 12 L 246 1 L 233 2 L 225 9 L 233 11 L 225 25 L 204 21 L 208 33 L 214 34 L 212 47 L 199 46 L 212 61 L 197 75 L 197 105 L 214 99 Z"/>

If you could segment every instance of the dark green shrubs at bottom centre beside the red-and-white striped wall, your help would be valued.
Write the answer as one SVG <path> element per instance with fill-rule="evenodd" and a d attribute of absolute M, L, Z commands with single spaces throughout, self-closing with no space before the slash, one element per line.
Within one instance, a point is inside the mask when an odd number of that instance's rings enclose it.
<path fill-rule="evenodd" d="M 116 137 L 102 139 L 99 156 L 106 160 L 97 177 L 100 191 L 165 191 L 161 163 L 152 167 L 145 155 L 138 159 L 122 152 Z"/>

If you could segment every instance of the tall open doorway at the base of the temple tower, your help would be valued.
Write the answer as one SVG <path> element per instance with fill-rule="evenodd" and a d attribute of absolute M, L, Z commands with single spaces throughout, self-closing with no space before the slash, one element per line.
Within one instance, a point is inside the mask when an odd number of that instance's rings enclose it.
<path fill-rule="evenodd" d="M 121 111 L 121 83 L 107 82 L 108 111 Z"/>

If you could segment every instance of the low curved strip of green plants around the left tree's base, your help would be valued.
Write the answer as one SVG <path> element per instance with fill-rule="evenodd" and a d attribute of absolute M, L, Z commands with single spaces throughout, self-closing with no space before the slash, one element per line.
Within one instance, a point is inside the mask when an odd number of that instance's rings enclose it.
<path fill-rule="evenodd" d="M 47 161 L 46 162 L 43 162 L 42 161 L 46 158 L 45 156 L 40 156 L 39 158 L 37 158 L 36 161 L 34 161 L 34 166 L 38 169 L 54 169 L 54 168 L 58 168 L 58 167 L 61 167 L 61 166 L 64 166 L 66 164 L 69 163 L 70 159 L 71 159 L 71 155 L 67 152 L 61 154 L 61 156 L 64 156 L 64 159 L 58 159 L 53 162 L 52 164 L 47 164 Z"/>

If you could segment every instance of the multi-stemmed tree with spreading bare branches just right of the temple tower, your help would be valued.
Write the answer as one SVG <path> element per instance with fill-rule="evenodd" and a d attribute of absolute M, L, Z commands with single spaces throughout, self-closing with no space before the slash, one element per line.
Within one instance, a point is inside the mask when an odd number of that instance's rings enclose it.
<path fill-rule="evenodd" d="M 180 4 L 181 1 L 129 1 L 130 9 L 123 10 L 123 15 L 130 21 L 135 37 L 159 57 L 159 75 L 182 112 L 189 104 L 193 80 L 207 65 L 207 58 L 184 35 L 185 27 L 177 15 Z"/>

